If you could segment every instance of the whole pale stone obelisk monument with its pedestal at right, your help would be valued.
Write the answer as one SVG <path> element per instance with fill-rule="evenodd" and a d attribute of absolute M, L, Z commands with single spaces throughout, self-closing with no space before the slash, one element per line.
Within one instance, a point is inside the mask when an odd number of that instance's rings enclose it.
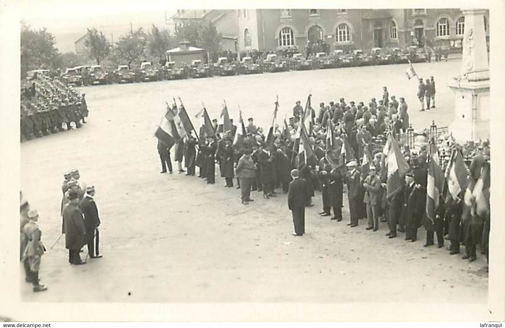
<path fill-rule="evenodd" d="M 455 94 L 455 119 L 450 125 L 453 137 L 459 142 L 489 138 L 489 60 L 485 10 L 463 10 L 465 33 L 461 75 L 448 87 Z"/>

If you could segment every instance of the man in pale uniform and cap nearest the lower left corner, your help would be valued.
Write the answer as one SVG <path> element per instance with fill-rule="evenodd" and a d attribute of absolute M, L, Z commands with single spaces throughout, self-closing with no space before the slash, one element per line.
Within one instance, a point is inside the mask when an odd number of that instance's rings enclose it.
<path fill-rule="evenodd" d="M 38 228 L 38 211 L 30 210 L 28 212 L 29 222 L 24 227 L 24 233 L 27 238 L 27 245 L 24 252 L 24 256 L 28 258 L 28 263 L 30 266 L 30 276 L 31 282 L 33 284 L 34 292 L 42 292 L 47 290 L 47 287 L 39 283 L 38 271 L 40 268 L 40 258 L 45 252 L 45 247 L 40 241 L 40 236 L 42 233 Z"/>

